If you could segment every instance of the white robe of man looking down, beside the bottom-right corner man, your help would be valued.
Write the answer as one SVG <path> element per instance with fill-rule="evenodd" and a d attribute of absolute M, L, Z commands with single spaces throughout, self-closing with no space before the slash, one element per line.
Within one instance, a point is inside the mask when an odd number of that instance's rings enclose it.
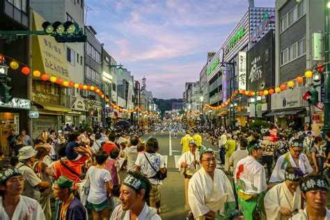
<path fill-rule="evenodd" d="M 272 189 L 269 189 L 264 202 L 267 220 L 288 219 L 288 217 L 284 217 L 279 210 L 281 207 L 285 207 L 292 212 L 294 212 L 294 210 L 299 210 L 301 205 L 300 193 L 300 187 L 297 187 L 292 195 L 285 182 L 276 184 Z"/>

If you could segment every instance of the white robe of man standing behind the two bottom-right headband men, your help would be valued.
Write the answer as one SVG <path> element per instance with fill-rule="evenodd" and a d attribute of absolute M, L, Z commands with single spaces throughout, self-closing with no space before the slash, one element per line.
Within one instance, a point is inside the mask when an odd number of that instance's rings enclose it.
<path fill-rule="evenodd" d="M 269 179 L 269 182 L 283 182 L 285 180 L 285 168 L 287 168 L 288 166 L 300 168 L 305 175 L 313 172 L 313 168 L 311 167 L 311 164 L 309 164 L 306 155 L 299 155 L 299 166 L 297 166 L 290 153 L 286 152 L 285 155 L 282 155 L 278 158 L 272 176 Z"/>

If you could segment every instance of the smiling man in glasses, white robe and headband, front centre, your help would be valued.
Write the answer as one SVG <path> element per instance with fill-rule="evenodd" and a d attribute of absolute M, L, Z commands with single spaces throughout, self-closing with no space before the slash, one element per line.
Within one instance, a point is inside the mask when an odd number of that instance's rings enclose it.
<path fill-rule="evenodd" d="M 200 152 L 201 169 L 189 181 L 188 201 L 194 218 L 226 219 L 233 216 L 235 197 L 230 181 L 216 169 L 217 159 L 210 148 Z"/>

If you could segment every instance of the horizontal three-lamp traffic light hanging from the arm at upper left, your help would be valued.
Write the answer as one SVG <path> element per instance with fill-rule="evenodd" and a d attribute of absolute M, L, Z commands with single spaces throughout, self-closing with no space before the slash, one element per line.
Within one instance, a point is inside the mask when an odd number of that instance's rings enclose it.
<path fill-rule="evenodd" d="M 53 36 L 57 42 L 86 42 L 87 36 L 76 22 L 44 22 L 45 33 Z"/>

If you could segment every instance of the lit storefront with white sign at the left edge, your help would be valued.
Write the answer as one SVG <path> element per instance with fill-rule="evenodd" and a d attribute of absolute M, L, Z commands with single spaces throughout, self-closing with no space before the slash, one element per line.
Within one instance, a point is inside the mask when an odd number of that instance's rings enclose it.
<path fill-rule="evenodd" d="M 0 147 L 5 155 L 8 155 L 8 141 L 11 129 L 19 134 L 27 125 L 28 112 L 31 109 L 30 100 L 13 98 L 11 102 L 0 102 Z M 1 151 L 1 150 L 0 150 Z"/>

